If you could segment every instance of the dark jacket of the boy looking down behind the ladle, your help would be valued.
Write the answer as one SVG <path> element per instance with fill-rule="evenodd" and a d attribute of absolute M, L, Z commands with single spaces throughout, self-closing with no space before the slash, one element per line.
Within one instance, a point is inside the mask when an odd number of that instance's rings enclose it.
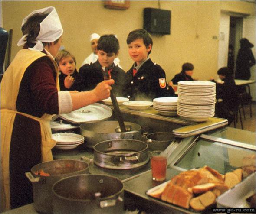
<path fill-rule="evenodd" d="M 82 79 L 82 91 L 92 90 L 98 83 L 104 80 L 102 66 L 98 60 L 90 65 L 83 65 L 79 69 L 79 75 L 81 75 Z M 115 84 L 112 85 L 115 96 L 123 97 L 122 90 L 125 84 L 125 71 L 113 63 L 111 78 L 115 80 Z"/>

